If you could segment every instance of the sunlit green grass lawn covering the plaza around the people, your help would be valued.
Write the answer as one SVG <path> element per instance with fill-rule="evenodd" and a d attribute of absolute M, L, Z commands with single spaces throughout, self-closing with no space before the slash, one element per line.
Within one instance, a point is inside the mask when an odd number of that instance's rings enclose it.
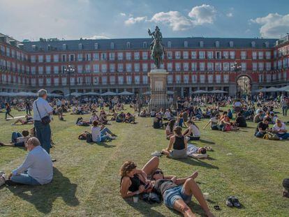
<path fill-rule="evenodd" d="M 24 114 L 15 112 L 12 114 Z M 0 141 L 10 142 L 13 130 L 0 113 Z M 134 204 L 119 194 L 119 168 L 125 160 L 134 160 L 141 168 L 153 151 L 168 146 L 164 130 L 154 130 L 151 118 L 137 118 L 138 124 L 108 127 L 118 135 L 105 144 L 87 144 L 77 136 L 89 127 L 75 126 L 76 115 L 66 114 L 66 121 L 54 117 L 55 148 L 52 157 L 54 179 L 45 186 L 0 188 L 0 216 L 178 216 L 164 204 Z M 83 117 L 89 117 L 84 115 Z M 282 116 L 280 116 L 283 118 Z M 285 119 L 289 121 L 289 119 Z M 202 128 L 207 120 L 198 121 Z M 239 132 L 201 130 L 197 146 L 209 145 L 209 159 L 172 160 L 161 157 L 165 174 L 186 177 L 199 172 L 196 179 L 203 192 L 210 195 L 209 207 L 216 216 L 288 216 L 289 199 L 283 198 L 282 180 L 289 177 L 289 141 L 270 141 L 253 136 L 255 125 Z M 0 147 L 0 170 L 9 173 L 24 160 L 24 149 Z M 230 154 L 230 155 L 228 155 Z M 225 206 L 229 195 L 239 197 L 242 209 Z M 221 206 L 215 211 L 214 205 Z M 195 199 L 190 204 L 197 216 L 203 216 Z"/>

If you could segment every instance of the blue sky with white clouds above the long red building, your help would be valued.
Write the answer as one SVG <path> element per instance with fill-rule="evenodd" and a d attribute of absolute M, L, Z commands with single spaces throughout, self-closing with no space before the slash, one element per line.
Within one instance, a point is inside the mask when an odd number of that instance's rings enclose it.
<path fill-rule="evenodd" d="M 280 38 L 289 32 L 289 1 L 0 0 L 0 32 L 38 38 Z"/>

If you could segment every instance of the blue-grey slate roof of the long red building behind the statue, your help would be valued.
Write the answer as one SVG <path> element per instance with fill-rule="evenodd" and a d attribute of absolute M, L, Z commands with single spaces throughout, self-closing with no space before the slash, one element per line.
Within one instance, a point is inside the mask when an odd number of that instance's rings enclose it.
<path fill-rule="evenodd" d="M 276 40 L 272 38 L 163 38 L 163 44 L 168 47 L 168 41 L 171 42 L 171 49 L 185 49 L 184 42 L 188 43 L 188 48 L 216 48 L 216 41 L 219 42 L 219 48 L 230 48 L 230 41 L 233 42 L 232 48 L 251 48 L 251 43 L 255 42 L 255 48 L 267 48 L 265 43 L 269 43 L 269 48 L 276 45 Z M 203 47 L 200 47 L 200 41 Z M 127 47 L 127 43 L 131 43 L 131 47 Z M 143 43 L 147 42 L 147 47 L 143 47 Z M 82 44 L 80 49 L 79 44 Z M 64 51 L 63 45 L 66 44 L 66 51 L 85 51 L 96 50 L 95 44 L 98 43 L 98 50 L 147 50 L 151 38 L 116 38 L 116 39 L 96 39 L 96 40 L 57 40 L 57 41 L 32 41 L 23 42 L 24 50 L 27 52 L 48 52 L 48 45 L 52 51 Z M 111 43 L 114 43 L 114 49 L 111 49 Z M 32 47 L 36 45 L 36 50 Z"/>

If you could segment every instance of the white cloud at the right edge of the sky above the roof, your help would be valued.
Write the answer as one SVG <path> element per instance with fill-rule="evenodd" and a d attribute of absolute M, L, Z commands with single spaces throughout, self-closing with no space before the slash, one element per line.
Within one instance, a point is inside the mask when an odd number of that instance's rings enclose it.
<path fill-rule="evenodd" d="M 269 13 L 265 17 L 257 17 L 250 21 L 262 25 L 260 28 L 262 37 L 279 38 L 289 31 L 289 14 Z"/>

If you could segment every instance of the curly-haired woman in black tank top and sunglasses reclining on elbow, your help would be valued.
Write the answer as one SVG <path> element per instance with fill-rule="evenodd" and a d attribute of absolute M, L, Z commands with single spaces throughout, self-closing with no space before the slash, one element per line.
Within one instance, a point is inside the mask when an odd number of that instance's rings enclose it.
<path fill-rule="evenodd" d="M 121 166 L 121 197 L 133 197 L 146 191 L 145 186 L 149 184 L 149 175 L 151 175 L 156 168 L 158 168 L 159 158 L 151 158 L 142 170 L 137 169 L 137 165 L 133 161 L 126 161 Z"/>

